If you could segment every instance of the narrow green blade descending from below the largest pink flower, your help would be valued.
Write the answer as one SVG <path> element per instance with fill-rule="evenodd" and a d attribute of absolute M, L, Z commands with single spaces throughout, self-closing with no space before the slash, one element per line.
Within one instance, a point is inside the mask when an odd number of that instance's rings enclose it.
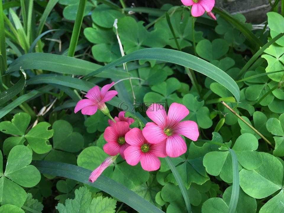
<path fill-rule="evenodd" d="M 180 191 L 181 191 L 181 193 L 183 195 L 183 199 L 185 201 L 187 212 L 191 213 L 191 205 L 190 205 L 188 193 L 187 193 L 186 188 L 185 188 L 185 186 L 183 184 L 183 180 L 181 179 L 180 174 L 178 173 L 177 168 L 173 164 L 172 159 L 169 156 L 165 157 L 165 159 L 166 159 L 166 161 L 167 161 L 167 163 L 168 163 L 168 165 L 169 165 L 169 167 L 170 167 L 170 169 L 172 171 L 172 174 L 175 177 L 175 180 L 178 182 L 178 186 L 180 187 Z"/>

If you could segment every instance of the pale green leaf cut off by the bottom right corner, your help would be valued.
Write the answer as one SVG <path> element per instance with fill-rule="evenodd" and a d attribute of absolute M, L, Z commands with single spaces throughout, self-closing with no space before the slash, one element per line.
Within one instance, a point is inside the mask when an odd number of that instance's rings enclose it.
<path fill-rule="evenodd" d="M 265 203 L 259 213 L 269 213 L 273 209 L 273 213 L 282 213 L 284 212 L 284 192 L 281 190 L 279 194 L 271 198 L 267 203 Z"/>

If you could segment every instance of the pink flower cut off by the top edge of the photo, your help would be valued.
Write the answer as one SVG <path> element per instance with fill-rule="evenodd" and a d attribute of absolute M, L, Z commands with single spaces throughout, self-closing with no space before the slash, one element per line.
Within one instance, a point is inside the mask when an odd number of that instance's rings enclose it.
<path fill-rule="evenodd" d="M 215 4 L 215 0 L 181 0 L 185 6 L 191 6 L 191 14 L 194 17 L 203 15 L 203 13 L 210 12 Z"/>

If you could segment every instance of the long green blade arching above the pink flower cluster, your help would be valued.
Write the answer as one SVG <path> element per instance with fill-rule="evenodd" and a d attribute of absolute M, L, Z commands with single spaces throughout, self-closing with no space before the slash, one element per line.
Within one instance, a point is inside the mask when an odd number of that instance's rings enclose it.
<path fill-rule="evenodd" d="M 217 81 L 225 88 L 227 88 L 235 96 L 237 102 L 239 102 L 240 100 L 240 91 L 238 85 L 229 75 L 227 75 L 225 72 L 215 67 L 214 65 L 210 64 L 209 62 L 206 62 L 193 55 L 180 52 L 177 50 L 162 49 L 162 48 L 141 49 L 133 53 L 127 54 L 124 57 L 117 59 L 112 63 L 107 64 L 101 69 L 96 70 L 96 73 L 102 72 L 104 70 L 107 70 L 111 67 L 117 66 L 125 62 L 140 60 L 140 59 L 161 60 L 165 62 L 179 64 L 181 66 L 196 70 L 197 72 L 200 72 L 208 76 L 209 78 L 212 78 L 213 80 Z M 93 76 L 94 74 L 95 72 L 90 73 L 89 75 L 85 76 L 85 78 Z"/>

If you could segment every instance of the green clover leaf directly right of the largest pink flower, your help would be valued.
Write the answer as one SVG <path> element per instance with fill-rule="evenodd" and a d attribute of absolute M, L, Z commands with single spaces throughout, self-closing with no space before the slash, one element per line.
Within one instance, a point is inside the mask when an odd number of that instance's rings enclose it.
<path fill-rule="evenodd" d="M 185 120 L 195 121 L 200 128 L 207 129 L 212 126 L 213 122 L 210 119 L 209 109 L 204 106 L 204 101 L 197 101 L 197 97 L 192 94 L 183 96 L 183 104 L 188 108 L 189 115 Z"/>

